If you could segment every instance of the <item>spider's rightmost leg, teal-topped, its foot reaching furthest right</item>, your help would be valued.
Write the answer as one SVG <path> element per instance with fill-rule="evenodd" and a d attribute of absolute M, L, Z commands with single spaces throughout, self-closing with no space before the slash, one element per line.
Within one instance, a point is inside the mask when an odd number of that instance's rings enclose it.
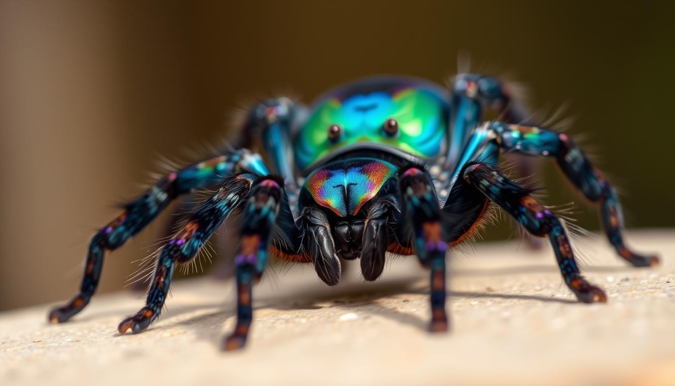
<path fill-rule="evenodd" d="M 565 134 L 534 126 L 520 126 L 492 122 L 497 142 L 507 151 L 526 155 L 547 155 L 556 158 L 558 166 L 570 182 L 587 199 L 599 203 L 605 235 L 617 253 L 633 266 L 652 266 L 659 262 L 656 256 L 637 254 L 626 247 L 622 235 L 623 218 L 616 191 L 593 168 L 583 151 Z"/>

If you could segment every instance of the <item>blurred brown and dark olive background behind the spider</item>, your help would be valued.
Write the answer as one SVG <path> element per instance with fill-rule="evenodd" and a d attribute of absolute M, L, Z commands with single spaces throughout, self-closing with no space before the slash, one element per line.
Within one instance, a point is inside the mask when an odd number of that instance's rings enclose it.
<path fill-rule="evenodd" d="M 574 135 L 621 187 L 630 227 L 675 224 L 674 7 L 539 1 L 0 0 L 0 309 L 65 300 L 88 237 L 140 193 L 156 154 L 217 143 L 242 100 L 304 101 L 381 73 L 444 82 L 514 74 L 543 112 L 566 102 Z M 544 168 L 546 202 L 595 210 Z M 107 257 L 101 292 L 161 224 Z M 489 228 L 505 237 L 508 226 Z"/>

